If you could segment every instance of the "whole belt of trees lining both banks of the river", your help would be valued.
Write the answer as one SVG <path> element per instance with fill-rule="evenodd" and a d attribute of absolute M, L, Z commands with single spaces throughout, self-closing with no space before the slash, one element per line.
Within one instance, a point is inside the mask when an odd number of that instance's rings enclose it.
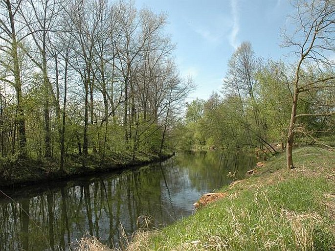
<path fill-rule="evenodd" d="M 222 91 L 189 101 L 165 14 L 123 0 L 1 0 L 1 176 L 25 160 L 65 171 L 200 147 L 287 150 L 291 169 L 294 143 L 334 147 L 334 1 L 298 4 L 286 60 L 245 41 Z"/>

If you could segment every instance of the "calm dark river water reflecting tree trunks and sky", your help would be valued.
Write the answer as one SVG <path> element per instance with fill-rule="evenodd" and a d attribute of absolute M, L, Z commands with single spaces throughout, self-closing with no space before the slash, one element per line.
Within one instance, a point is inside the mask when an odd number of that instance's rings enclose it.
<path fill-rule="evenodd" d="M 117 245 L 145 219 L 159 228 L 187 217 L 200 196 L 242 178 L 255 163 L 243 155 L 179 153 L 162 163 L 0 193 L 0 251 L 67 250 L 85 232 Z"/>

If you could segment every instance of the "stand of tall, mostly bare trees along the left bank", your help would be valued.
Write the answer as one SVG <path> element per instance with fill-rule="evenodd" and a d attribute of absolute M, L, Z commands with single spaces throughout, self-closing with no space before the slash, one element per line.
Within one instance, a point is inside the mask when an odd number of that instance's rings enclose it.
<path fill-rule="evenodd" d="M 1 0 L 0 149 L 8 163 L 136 159 L 173 147 L 194 89 L 165 14 L 133 1 Z"/>

